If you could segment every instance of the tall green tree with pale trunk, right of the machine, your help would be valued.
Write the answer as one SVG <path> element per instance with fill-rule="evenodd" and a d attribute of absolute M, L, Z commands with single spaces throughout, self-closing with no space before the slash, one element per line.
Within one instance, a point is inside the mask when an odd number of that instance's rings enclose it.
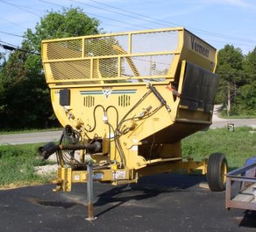
<path fill-rule="evenodd" d="M 217 74 L 220 76 L 217 99 L 227 105 L 228 114 L 235 102 L 236 89 L 246 84 L 243 72 L 244 55 L 240 48 L 226 45 L 219 50 Z"/>

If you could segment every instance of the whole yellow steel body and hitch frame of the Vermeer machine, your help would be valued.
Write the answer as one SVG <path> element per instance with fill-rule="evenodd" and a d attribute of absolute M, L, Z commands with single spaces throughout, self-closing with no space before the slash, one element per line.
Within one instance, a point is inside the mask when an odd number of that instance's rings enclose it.
<path fill-rule="evenodd" d="M 169 49 L 167 44 L 166 50 L 133 52 L 134 35 L 145 35 L 147 38 L 147 36 L 150 37 L 158 32 L 176 32 L 176 50 Z M 124 50 L 121 44 L 115 43 L 114 46 L 112 44 L 109 46 L 109 49 L 114 54 L 104 54 L 104 49 L 100 45 L 97 45 L 98 43 L 93 43 L 93 46 L 95 46 L 93 49 L 100 48 L 97 50 L 98 53 L 95 52 L 94 55 L 93 52 L 91 52 L 93 54 L 85 52 L 86 46 L 88 46 L 86 40 L 88 39 L 100 39 L 100 41 L 104 41 L 104 38 L 116 38 L 124 35 L 127 36 L 127 43 L 125 43 L 127 50 Z M 82 43 L 74 42 L 77 40 L 81 40 Z M 149 42 L 151 41 L 152 39 L 149 39 Z M 154 42 L 157 43 L 157 41 Z M 63 44 L 61 46 L 55 46 L 55 43 Z M 77 46 L 76 44 L 80 45 Z M 60 47 L 64 51 L 58 50 Z M 154 44 L 152 47 L 154 48 Z M 49 57 L 49 54 L 53 53 L 51 48 L 57 49 L 54 51 L 55 53 L 60 52 L 60 54 L 66 54 L 68 58 L 60 56 L 56 59 L 57 55 L 55 54 Z M 68 50 L 71 50 L 71 54 L 75 54 L 76 57 L 68 54 L 66 52 Z M 80 53 L 81 55 L 77 57 L 77 54 Z M 135 61 L 142 57 L 150 58 L 158 55 L 172 56 L 164 72 L 152 72 L 155 67 L 151 59 L 147 60 L 149 62 L 149 72 L 147 75 L 141 74 L 141 67 L 138 64 L 134 64 Z M 134 57 L 137 60 L 134 60 Z M 210 72 L 214 72 L 217 65 L 217 50 L 208 43 L 184 28 L 142 30 L 138 32 L 45 40 L 42 41 L 42 59 L 46 81 L 51 88 L 53 109 L 60 123 L 63 126 L 70 124 L 73 128 L 80 131 L 83 142 L 86 142 L 86 136 L 93 138 L 97 135 L 102 138 L 104 151 L 107 150 L 107 144 L 109 142 L 111 144 L 109 155 L 91 155 L 93 160 L 98 164 L 100 162 L 111 162 L 110 168 L 94 171 L 96 176 L 102 176 L 102 178 L 97 179 L 98 181 L 124 184 L 137 182 L 138 177 L 143 175 L 176 171 L 179 169 L 188 171 L 199 169 L 202 173 L 206 172 L 207 160 L 203 160 L 203 162 L 194 162 L 192 160 L 188 160 L 188 162 L 182 161 L 180 140 L 209 126 L 212 123 L 212 112 L 205 113 L 201 108 L 195 111 L 188 110 L 186 106 L 180 104 L 180 98 L 175 97 L 166 87 L 168 85 L 177 86 L 178 93 L 182 95 L 187 61 L 201 66 L 206 70 L 210 70 Z M 115 59 L 116 61 L 110 63 L 110 72 L 107 73 L 107 77 L 104 77 L 104 72 L 108 72 L 108 63 L 104 62 L 108 59 Z M 77 61 L 84 61 L 85 63 L 77 64 L 75 63 Z M 122 76 L 124 69 L 122 62 L 125 61 L 127 61 L 127 67 L 131 68 L 131 75 L 129 77 Z M 100 67 L 101 62 L 104 63 L 103 68 Z M 62 64 L 62 66 L 56 66 L 59 64 Z M 111 72 L 112 68 L 116 69 L 116 72 Z M 79 78 L 75 78 L 75 76 L 72 79 L 73 70 L 75 70 L 75 75 L 79 76 Z M 66 72 L 68 72 L 68 75 Z M 159 100 L 153 93 L 148 92 L 149 84 L 153 84 L 158 93 L 161 93 L 163 99 L 166 100 L 169 110 L 161 106 Z M 70 106 L 60 106 L 59 92 L 62 88 L 68 88 L 71 91 Z M 106 94 L 107 90 L 109 91 L 109 95 Z M 125 121 L 122 125 L 128 128 L 128 131 L 118 138 L 126 160 L 125 166 L 120 166 L 121 155 L 117 152 L 116 144 L 111 139 L 111 133 L 113 131 L 109 134 L 109 126 L 102 120 L 103 112 L 95 110 L 95 107 L 98 104 L 103 108 L 115 106 L 119 119 L 122 119 L 132 106 L 136 104 L 138 99 L 143 98 L 145 95 L 147 97 L 143 99 L 143 102 L 129 113 L 131 120 Z M 86 96 L 93 99 L 93 104 L 86 105 Z M 132 117 L 138 117 L 146 108 L 150 108 L 149 106 L 151 106 L 152 110 L 149 110 L 148 117 L 138 119 L 137 121 L 132 119 Z M 156 111 L 153 111 L 154 109 Z M 95 131 L 90 131 L 89 128 L 92 128 L 93 124 L 95 124 L 93 121 L 94 113 L 97 126 L 95 126 Z M 117 115 L 115 111 L 108 112 L 107 116 L 108 122 L 111 125 L 116 125 Z M 115 126 L 113 127 L 116 128 Z M 163 131 L 165 133 L 161 133 Z M 154 140 L 156 140 L 158 153 L 156 157 L 152 158 L 151 152 L 154 146 Z M 165 143 L 161 143 L 162 140 Z M 147 145 L 147 142 L 153 144 L 152 148 Z M 80 157 L 81 161 L 84 160 L 83 155 Z M 117 179 L 116 176 L 120 178 Z M 62 164 L 58 170 L 58 178 L 55 182 L 58 184 L 56 190 L 63 189 L 64 191 L 70 191 L 71 183 L 86 182 L 86 171 L 75 171 L 71 168 L 66 168 Z"/>

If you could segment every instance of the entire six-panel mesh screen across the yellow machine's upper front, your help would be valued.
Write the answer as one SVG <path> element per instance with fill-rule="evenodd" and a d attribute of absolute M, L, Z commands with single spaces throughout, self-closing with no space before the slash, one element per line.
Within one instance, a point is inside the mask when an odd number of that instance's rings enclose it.
<path fill-rule="evenodd" d="M 46 68 L 46 79 L 53 82 L 103 79 L 105 83 L 120 83 L 131 79 L 136 82 L 138 77 L 144 81 L 148 77 L 161 81 L 168 78 L 178 45 L 179 30 L 46 41 L 43 42 L 46 46 L 43 61 L 50 64 L 50 68 Z"/>

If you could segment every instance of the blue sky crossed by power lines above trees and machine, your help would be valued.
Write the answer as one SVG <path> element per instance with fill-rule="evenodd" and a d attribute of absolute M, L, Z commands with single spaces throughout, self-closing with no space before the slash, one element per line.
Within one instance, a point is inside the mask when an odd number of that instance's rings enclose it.
<path fill-rule="evenodd" d="M 71 0 L 45 1 L 65 7 L 71 5 L 73 7 L 80 6 L 80 8 L 84 9 L 84 12 L 98 15 L 99 17 L 95 18 L 100 20 L 100 26 L 106 32 L 166 28 L 167 26 L 177 25 L 185 26 L 185 28 L 188 28 L 218 49 L 223 48 L 226 43 L 230 43 L 234 44 L 235 47 L 241 48 L 244 54 L 246 54 L 256 46 L 255 0 L 95 0 L 110 6 L 143 14 L 149 18 L 116 10 L 90 0 L 75 0 L 76 2 Z M 5 2 L 17 6 L 11 6 Z M 85 6 L 77 2 L 105 10 Z M 40 17 L 47 13 L 47 10 L 61 10 L 61 7 L 40 0 L 0 0 L 0 31 L 23 35 L 26 28 L 35 28 L 35 24 L 40 20 Z M 157 21 L 164 25 L 126 17 L 106 10 L 130 14 L 133 17 Z M 89 17 L 92 17 L 91 14 L 89 14 Z M 133 25 L 127 25 L 103 17 Z M 208 35 L 208 32 L 214 32 L 218 35 Z M 19 46 L 22 38 L 0 33 L 0 40 Z"/>

